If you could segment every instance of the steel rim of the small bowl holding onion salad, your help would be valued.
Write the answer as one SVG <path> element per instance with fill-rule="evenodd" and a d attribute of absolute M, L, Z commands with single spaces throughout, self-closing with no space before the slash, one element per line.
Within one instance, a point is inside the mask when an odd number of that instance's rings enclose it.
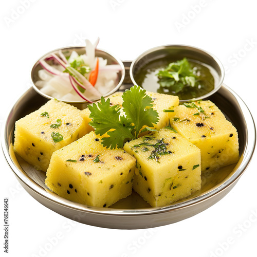
<path fill-rule="evenodd" d="M 38 72 L 39 70 L 43 69 L 42 66 L 40 65 L 39 61 L 40 60 L 44 60 L 47 57 L 50 56 L 51 53 L 55 53 L 58 55 L 59 50 L 62 51 L 62 53 L 64 54 L 65 57 L 70 56 L 72 51 L 76 51 L 79 55 L 80 54 L 84 54 L 85 53 L 85 46 L 70 46 L 70 47 L 62 47 L 62 48 L 58 48 L 56 50 L 50 51 L 46 54 L 44 54 L 44 56 L 42 56 L 41 58 L 39 58 L 38 61 L 36 61 L 34 63 L 34 65 L 32 66 L 31 69 L 31 82 L 32 82 L 32 87 L 34 88 L 34 90 L 39 93 L 40 95 L 42 95 L 43 97 L 47 98 L 47 99 L 53 99 L 54 97 L 48 96 L 46 94 L 44 94 L 36 85 L 36 81 L 40 80 L 39 76 L 38 76 Z M 115 57 L 113 54 L 108 53 L 104 50 L 101 49 L 96 49 L 96 57 L 102 57 L 103 59 L 107 60 L 107 64 L 119 64 L 121 67 L 121 70 L 118 72 L 118 78 L 116 81 L 116 85 L 115 87 L 109 91 L 108 93 L 106 93 L 105 95 L 103 95 L 103 97 L 107 97 L 109 95 L 112 95 L 113 93 L 115 93 L 120 86 L 123 83 L 123 80 L 125 78 L 125 68 L 124 68 L 124 64 L 122 63 L 121 60 L 119 60 L 117 57 Z M 48 61 L 49 62 L 49 61 Z M 91 99 L 92 101 L 97 101 L 100 98 L 96 98 L 96 99 Z M 79 101 L 67 101 L 67 100 L 62 100 L 62 99 L 57 99 L 59 101 L 63 101 L 65 103 L 69 103 L 72 104 L 78 108 L 85 108 L 86 105 L 88 104 L 88 102 L 86 102 L 85 100 L 79 100 Z"/>

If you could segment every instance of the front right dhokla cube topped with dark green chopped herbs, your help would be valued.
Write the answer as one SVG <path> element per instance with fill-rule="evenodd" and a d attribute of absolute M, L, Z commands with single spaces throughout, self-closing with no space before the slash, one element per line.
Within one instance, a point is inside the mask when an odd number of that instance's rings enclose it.
<path fill-rule="evenodd" d="M 137 159 L 133 189 L 152 207 L 201 188 L 200 150 L 168 128 L 127 142 L 124 150 Z"/>

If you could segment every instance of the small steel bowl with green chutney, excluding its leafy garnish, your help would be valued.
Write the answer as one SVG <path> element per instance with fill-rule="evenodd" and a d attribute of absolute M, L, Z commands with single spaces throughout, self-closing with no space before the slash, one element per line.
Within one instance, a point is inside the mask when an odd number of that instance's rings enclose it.
<path fill-rule="evenodd" d="M 170 87 L 160 83 L 157 73 L 169 63 L 187 58 L 191 67 L 197 69 L 200 77 L 186 94 L 175 93 Z M 197 74 L 196 70 L 195 73 Z M 130 66 L 130 77 L 135 85 L 142 86 L 147 91 L 179 96 L 180 102 L 207 99 L 214 94 L 224 80 L 225 72 L 222 63 L 210 52 L 188 45 L 163 45 L 151 48 L 138 56 Z M 191 91 L 190 91 L 191 90 Z"/>

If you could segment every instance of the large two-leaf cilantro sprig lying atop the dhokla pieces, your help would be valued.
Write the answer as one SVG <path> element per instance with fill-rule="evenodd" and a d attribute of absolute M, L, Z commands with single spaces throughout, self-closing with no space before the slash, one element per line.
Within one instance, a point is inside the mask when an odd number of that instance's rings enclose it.
<path fill-rule="evenodd" d="M 95 128 L 95 133 L 100 136 L 107 133 L 108 137 L 102 138 L 102 145 L 107 148 L 123 148 L 126 141 L 138 138 L 144 126 L 149 127 L 159 120 L 158 113 L 153 107 L 153 99 L 146 95 L 140 86 L 133 86 L 123 95 L 123 111 L 120 115 L 120 106 L 110 106 L 110 99 L 102 97 L 97 104 L 89 105 L 91 112 L 89 125 Z M 146 129 L 146 130 L 150 130 Z"/>

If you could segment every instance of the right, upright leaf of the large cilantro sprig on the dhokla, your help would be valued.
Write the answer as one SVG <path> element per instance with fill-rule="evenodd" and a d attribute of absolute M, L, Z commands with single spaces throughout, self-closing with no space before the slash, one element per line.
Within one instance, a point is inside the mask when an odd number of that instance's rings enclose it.
<path fill-rule="evenodd" d="M 126 119 L 135 125 L 135 138 L 143 126 L 151 127 L 159 120 L 157 111 L 152 108 L 153 99 L 145 92 L 140 86 L 133 86 L 122 95 Z"/>

